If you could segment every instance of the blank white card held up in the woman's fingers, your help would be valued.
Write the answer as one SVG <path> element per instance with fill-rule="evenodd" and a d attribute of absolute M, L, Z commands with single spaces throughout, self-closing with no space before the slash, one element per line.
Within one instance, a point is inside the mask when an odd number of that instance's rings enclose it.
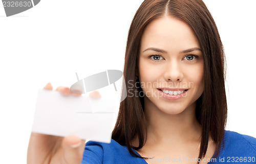
<path fill-rule="evenodd" d="M 116 105 L 110 99 L 39 90 L 32 131 L 110 143 Z"/>

